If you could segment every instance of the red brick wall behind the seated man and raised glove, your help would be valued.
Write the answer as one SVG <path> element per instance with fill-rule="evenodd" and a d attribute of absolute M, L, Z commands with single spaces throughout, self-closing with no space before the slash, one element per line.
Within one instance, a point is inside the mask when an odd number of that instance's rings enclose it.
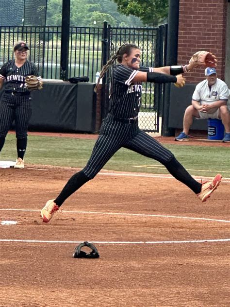
<path fill-rule="evenodd" d="M 217 57 L 217 74 L 224 80 L 228 0 L 180 0 L 178 64 L 187 64 L 199 50 Z M 187 83 L 204 80 L 204 69 L 186 74 Z"/>

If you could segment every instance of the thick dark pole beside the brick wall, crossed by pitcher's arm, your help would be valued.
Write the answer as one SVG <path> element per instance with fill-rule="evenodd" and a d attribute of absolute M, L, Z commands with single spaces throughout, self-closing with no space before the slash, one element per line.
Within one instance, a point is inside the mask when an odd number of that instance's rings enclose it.
<path fill-rule="evenodd" d="M 168 11 L 166 66 L 177 65 L 180 0 L 169 0 L 168 3 L 169 3 L 169 11 Z M 163 118 L 162 118 L 163 136 L 175 135 L 175 130 L 172 128 L 168 128 L 168 117 L 169 117 L 169 107 L 170 107 L 170 87 L 171 87 L 170 83 L 165 85 Z"/>

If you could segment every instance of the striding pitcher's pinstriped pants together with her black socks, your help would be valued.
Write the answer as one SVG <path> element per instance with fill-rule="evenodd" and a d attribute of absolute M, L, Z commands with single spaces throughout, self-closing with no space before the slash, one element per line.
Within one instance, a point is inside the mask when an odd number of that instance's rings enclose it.
<path fill-rule="evenodd" d="M 61 206 L 67 197 L 87 181 L 93 179 L 121 147 L 159 161 L 177 180 L 192 189 L 196 194 L 200 192 L 201 184 L 183 168 L 173 153 L 164 148 L 154 138 L 141 131 L 136 124 L 130 125 L 108 121 L 101 128 L 99 138 L 95 143 L 88 163 L 82 171 L 74 174 L 69 179 L 62 192 L 55 199 L 55 203 Z"/>

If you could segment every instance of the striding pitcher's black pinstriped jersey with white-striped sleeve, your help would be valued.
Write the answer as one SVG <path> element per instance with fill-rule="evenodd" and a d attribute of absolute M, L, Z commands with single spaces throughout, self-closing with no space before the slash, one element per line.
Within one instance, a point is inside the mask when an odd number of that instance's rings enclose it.
<path fill-rule="evenodd" d="M 117 118 L 129 119 L 138 115 L 142 85 L 132 83 L 139 71 L 153 72 L 153 68 L 140 67 L 133 69 L 124 65 L 116 65 L 112 70 L 110 84 L 109 113 Z"/>

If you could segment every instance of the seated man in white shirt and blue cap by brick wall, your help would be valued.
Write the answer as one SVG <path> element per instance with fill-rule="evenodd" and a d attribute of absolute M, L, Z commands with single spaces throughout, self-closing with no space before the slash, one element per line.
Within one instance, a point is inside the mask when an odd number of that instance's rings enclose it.
<path fill-rule="evenodd" d="M 217 78 L 215 68 L 206 68 L 206 79 L 197 84 L 192 97 L 192 105 L 184 113 L 183 132 L 176 141 L 189 140 L 189 128 L 196 119 L 221 119 L 225 127 L 223 142 L 230 142 L 230 112 L 227 106 L 229 99 L 228 85 Z"/>

